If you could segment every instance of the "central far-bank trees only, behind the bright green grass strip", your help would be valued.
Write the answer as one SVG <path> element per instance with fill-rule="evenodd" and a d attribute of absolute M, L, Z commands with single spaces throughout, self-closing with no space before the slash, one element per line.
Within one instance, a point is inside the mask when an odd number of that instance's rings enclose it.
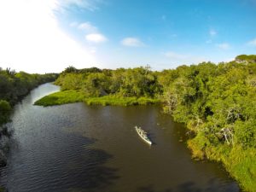
<path fill-rule="evenodd" d="M 109 94 L 154 97 L 161 93 L 157 73 L 150 71 L 149 67 L 117 70 L 100 70 L 96 67 L 78 70 L 68 67 L 55 84 L 60 85 L 61 90 L 83 90 L 90 97 Z"/>

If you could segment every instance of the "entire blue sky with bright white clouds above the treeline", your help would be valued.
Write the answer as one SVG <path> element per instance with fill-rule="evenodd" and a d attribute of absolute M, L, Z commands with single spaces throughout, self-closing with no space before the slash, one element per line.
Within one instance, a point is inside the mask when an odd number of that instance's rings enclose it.
<path fill-rule="evenodd" d="M 256 0 L 0 0 L 0 67 L 154 70 L 256 54 Z"/>

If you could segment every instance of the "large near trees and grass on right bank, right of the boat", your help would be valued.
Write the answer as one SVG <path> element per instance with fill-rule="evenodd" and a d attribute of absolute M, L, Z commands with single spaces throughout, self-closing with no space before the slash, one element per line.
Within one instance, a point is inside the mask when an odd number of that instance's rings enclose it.
<path fill-rule="evenodd" d="M 224 163 L 247 191 L 256 190 L 256 55 L 160 73 L 165 111 L 195 137 L 196 159 Z"/>

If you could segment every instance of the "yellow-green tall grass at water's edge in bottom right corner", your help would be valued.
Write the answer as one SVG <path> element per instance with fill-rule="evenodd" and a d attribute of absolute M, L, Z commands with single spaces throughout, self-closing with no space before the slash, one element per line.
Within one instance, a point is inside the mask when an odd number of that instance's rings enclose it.
<path fill-rule="evenodd" d="M 221 162 L 244 191 L 256 191 L 255 148 L 241 145 L 230 148 L 227 144 L 213 146 L 202 134 L 189 140 L 188 146 L 195 159 Z"/>

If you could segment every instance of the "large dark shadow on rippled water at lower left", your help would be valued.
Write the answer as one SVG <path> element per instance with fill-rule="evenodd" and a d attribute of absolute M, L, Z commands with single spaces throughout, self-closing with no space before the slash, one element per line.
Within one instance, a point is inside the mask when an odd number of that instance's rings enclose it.
<path fill-rule="evenodd" d="M 95 139 L 69 136 L 67 140 L 65 142 L 65 137 L 55 137 L 48 140 L 46 147 L 35 145 L 30 148 L 32 152 L 20 157 L 22 161 L 15 163 L 16 172 L 13 176 L 12 173 L 9 175 L 9 192 L 16 189 L 19 192 L 94 192 L 108 189 L 119 178 L 118 169 L 105 165 L 113 155 L 102 149 L 91 148 Z M 16 149 L 22 150 L 19 146 Z"/>

